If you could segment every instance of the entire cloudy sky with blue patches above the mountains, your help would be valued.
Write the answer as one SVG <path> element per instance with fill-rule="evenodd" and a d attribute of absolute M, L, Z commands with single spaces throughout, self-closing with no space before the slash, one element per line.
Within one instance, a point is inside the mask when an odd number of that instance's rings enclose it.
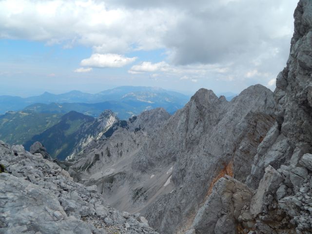
<path fill-rule="evenodd" d="M 0 95 L 272 90 L 297 0 L 0 0 Z"/>

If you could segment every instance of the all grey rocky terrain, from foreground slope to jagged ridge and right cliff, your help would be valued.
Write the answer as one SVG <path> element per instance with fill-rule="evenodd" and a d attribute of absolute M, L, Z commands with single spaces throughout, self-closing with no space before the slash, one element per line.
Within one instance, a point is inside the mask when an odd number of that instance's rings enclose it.
<path fill-rule="evenodd" d="M 172 116 L 106 111 L 59 164 L 39 142 L 1 141 L 0 234 L 312 234 L 311 74 L 300 0 L 274 92 L 199 89 Z"/>

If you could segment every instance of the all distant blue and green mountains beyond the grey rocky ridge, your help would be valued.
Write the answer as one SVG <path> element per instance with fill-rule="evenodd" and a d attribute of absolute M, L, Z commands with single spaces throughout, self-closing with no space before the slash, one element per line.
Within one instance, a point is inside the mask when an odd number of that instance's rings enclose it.
<path fill-rule="evenodd" d="M 232 93 L 223 95 L 227 98 L 233 96 Z M 68 135 L 67 128 L 77 134 L 76 130 L 82 125 L 86 128 L 85 125 L 93 123 L 95 127 L 90 128 L 93 131 L 97 128 L 98 121 L 103 119 L 101 113 L 104 110 L 111 110 L 114 114 L 110 115 L 114 115 L 116 119 L 128 120 L 143 111 L 157 107 L 174 114 L 188 100 L 188 96 L 177 92 L 135 86 L 121 86 L 98 94 L 71 91 L 59 95 L 45 92 L 29 98 L 0 96 L 0 113 L 5 113 L 0 115 L 0 140 L 9 144 L 23 144 L 27 149 L 31 143 L 39 140 L 44 143 L 51 156 L 63 159 L 63 156 L 69 156 L 73 150 L 79 150 L 79 147 L 73 147 L 84 144 L 78 142 L 83 136 Z M 76 120 L 71 121 L 73 118 Z M 103 130 L 100 129 L 99 133 L 101 131 Z M 76 139 L 71 141 L 71 137 Z M 96 138 L 92 134 L 90 137 Z M 61 141 L 54 142 L 54 138 Z M 69 142 L 66 149 L 62 148 L 62 141 L 65 140 Z"/>

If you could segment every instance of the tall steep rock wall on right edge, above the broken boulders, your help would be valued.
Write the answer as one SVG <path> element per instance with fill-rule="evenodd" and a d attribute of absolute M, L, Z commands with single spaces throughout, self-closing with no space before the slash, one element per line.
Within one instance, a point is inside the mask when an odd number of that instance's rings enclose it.
<path fill-rule="evenodd" d="M 255 158 L 248 185 L 256 187 L 269 164 L 296 165 L 312 142 L 312 3 L 301 0 L 294 12 L 294 34 L 287 66 L 276 79 L 277 121 Z"/>

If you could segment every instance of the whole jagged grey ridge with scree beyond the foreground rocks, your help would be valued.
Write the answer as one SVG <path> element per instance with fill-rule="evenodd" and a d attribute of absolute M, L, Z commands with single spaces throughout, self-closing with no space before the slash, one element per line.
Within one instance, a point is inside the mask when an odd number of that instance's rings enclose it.
<path fill-rule="evenodd" d="M 155 113 L 146 112 L 146 123 L 130 119 L 128 128 L 90 144 L 69 172 L 98 185 L 112 206 L 146 214 L 160 233 L 183 232 L 219 177 L 245 181 L 273 108 L 273 93 L 261 85 L 231 102 L 200 89 L 159 128 L 147 128 Z"/>

